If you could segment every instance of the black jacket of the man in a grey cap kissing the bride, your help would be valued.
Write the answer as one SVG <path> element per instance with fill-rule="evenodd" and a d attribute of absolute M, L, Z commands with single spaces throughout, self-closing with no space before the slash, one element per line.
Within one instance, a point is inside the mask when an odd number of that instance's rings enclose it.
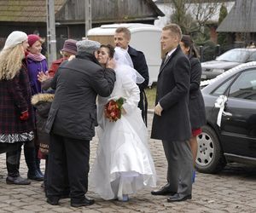
<path fill-rule="evenodd" d="M 103 69 L 93 55 L 77 55 L 61 64 L 52 80 L 55 98 L 46 130 L 56 135 L 91 140 L 95 135 L 96 95 L 112 93 L 115 73 Z"/>

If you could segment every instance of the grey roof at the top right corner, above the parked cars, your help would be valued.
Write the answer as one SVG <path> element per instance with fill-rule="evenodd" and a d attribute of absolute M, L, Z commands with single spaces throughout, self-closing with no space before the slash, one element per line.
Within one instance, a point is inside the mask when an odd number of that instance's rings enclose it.
<path fill-rule="evenodd" d="M 236 0 L 217 32 L 256 32 L 256 0 Z"/>

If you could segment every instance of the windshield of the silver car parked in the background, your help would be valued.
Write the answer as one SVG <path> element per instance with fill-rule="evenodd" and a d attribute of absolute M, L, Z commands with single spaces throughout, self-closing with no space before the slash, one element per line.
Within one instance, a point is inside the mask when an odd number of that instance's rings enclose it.
<path fill-rule="evenodd" d="M 219 57 L 216 60 L 244 63 L 247 61 L 251 53 L 252 52 L 247 49 L 230 49 L 223 55 L 219 55 Z"/>

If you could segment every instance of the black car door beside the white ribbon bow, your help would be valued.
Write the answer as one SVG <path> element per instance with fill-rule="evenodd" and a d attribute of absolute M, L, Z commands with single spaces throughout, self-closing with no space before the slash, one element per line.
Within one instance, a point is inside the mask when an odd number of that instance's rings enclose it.
<path fill-rule="evenodd" d="M 256 158 L 256 68 L 231 83 L 220 137 L 224 154 Z"/>

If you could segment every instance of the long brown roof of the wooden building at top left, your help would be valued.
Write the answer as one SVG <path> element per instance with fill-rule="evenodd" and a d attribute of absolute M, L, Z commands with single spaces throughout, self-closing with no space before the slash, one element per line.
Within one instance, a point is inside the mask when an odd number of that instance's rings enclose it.
<path fill-rule="evenodd" d="M 55 0 L 55 20 L 65 23 L 84 23 L 84 4 L 80 5 L 81 2 L 83 1 Z M 91 1 L 93 22 L 155 20 L 158 16 L 164 15 L 152 0 Z M 0 21 L 45 23 L 46 1 L 0 0 Z"/>

